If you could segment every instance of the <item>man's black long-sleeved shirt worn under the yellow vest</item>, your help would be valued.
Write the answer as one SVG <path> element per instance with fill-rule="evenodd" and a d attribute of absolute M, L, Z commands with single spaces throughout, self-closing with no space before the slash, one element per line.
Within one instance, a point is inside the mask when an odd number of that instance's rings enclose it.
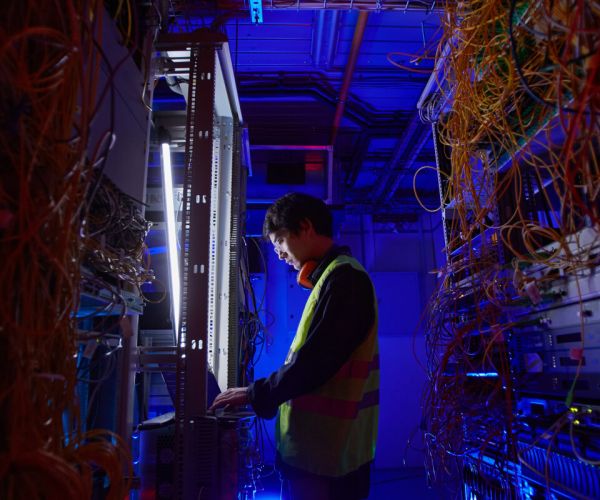
<path fill-rule="evenodd" d="M 344 248 L 334 247 L 311 278 Z M 285 401 L 307 394 L 327 382 L 367 338 L 374 322 L 374 294 L 368 275 L 349 264 L 335 268 L 323 283 L 306 342 L 289 363 L 250 384 L 250 404 L 259 417 L 273 418 Z"/>

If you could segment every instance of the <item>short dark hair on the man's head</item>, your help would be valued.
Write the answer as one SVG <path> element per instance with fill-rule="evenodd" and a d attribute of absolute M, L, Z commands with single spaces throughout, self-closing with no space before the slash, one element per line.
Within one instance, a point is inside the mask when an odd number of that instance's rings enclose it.
<path fill-rule="evenodd" d="M 268 209 L 263 224 L 263 236 L 287 229 L 292 233 L 300 231 L 300 223 L 308 219 L 317 234 L 333 236 L 331 212 L 327 205 L 314 196 L 303 193 L 288 193 L 275 201 Z"/>

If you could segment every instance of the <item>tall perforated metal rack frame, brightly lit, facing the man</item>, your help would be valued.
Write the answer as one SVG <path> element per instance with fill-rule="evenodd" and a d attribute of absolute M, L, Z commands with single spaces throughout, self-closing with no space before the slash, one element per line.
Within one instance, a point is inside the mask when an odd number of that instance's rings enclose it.
<path fill-rule="evenodd" d="M 241 218 L 245 202 L 241 111 L 226 39 L 199 30 L 156 44 L 167 71 L 189 85 L 181 237 L 182 301 L 176 350 L 174 491 L 176 498 L 220 498 L 224 436 L 241 441 L 251 415 L 207 414 L 208 374 L 237 385 Z M 230 420 L 233 419 L 232 424 Z M 229 429 L 229 430 L 227 430 Z M 236 434 L 237 433 L 237 434 Z M 243 467 L 242 467 L 243 468 Z M 237 469 L 235 469 L 237 471 Z M 239 472 L 239 471 L 238 471 Z M 241 483 L 251 483 L 239 476 Z M 242 485 L 243 486 L 243 485 Z M 228 488 L 236 489 L 235 485 Z M 227 496 L 227 495 L 226 495 Z"/>

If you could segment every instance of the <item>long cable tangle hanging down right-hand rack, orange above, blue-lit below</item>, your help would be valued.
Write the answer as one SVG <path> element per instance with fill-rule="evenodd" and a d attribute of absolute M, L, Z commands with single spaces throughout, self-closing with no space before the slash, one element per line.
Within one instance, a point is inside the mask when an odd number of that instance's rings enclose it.
<path fill-rule="evenodd" d="M 597 266 L 600 243 L 598 3 L 448 2 L 442 19 L 446 83 L 422 113 L 446 106 L 437 127 L 450 165 L 440 167 L 449 257 L 425 315 L 436 477 L 484 450 L 516 460 L 506 311 L 533 281 L 543 289 L 554 271 Z M 584 228 L 595 242 L 569 236 Z M 532 265 L 548 273 L 528 276 Z"/>

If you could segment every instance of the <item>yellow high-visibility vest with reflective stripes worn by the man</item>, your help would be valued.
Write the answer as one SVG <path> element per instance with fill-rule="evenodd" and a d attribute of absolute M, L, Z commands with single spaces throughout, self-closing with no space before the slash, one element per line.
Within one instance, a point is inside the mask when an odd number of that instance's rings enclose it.
<path fill-rule="evenodd" d="M 306 301 L 286 362 L 308 335 L 316 303 L 327 276 L 340 265 L 364 268 L 340 255 L 327 266 Z M 287 401 L 277 417 L 281 459 L 313 474 L 339 477 L 373 460 L 379 416 L 377 301 L 375 324 L 340 370 L 319 389 Z"/>

